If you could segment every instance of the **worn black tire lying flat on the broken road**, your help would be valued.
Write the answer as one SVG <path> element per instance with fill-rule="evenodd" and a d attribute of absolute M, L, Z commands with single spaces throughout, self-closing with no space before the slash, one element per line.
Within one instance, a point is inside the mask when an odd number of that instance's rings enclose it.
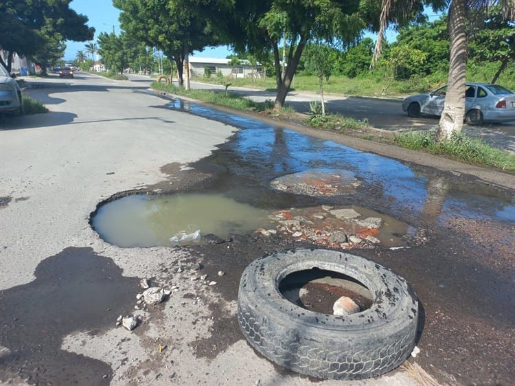
<path fill-rule="evenodd" d="M 340 317 L 288 302 L 279 283 L 313 268 L 354 277 L 374 295 L 361 313 Z M 398 367 L 415 345 L 418 302 L 407 282 L 370 260 L 339 251 L 299 249 L 255 260 L 238 293 L 244 337 L 267 359 L 318 378 L 359 379 Z"/>

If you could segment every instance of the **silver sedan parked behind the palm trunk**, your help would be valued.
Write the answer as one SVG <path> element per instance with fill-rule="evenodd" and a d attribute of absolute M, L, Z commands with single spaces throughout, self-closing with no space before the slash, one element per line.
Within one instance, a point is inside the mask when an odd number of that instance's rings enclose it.
<path fill-rule="evenodd" d="M 515 93 L 498 84 L 467 83 L 465 89 L 465 122 L 515 121 Z M 431 93 L 412 95 L 402 102 L 402 110 L 410 117 L 422 114 L 442 115 L 447 86 Z"/>

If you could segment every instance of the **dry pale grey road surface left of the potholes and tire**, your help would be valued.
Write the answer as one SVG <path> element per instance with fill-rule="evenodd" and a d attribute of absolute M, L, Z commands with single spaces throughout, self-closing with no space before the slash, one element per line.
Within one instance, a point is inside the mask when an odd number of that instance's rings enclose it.
<path fill-rule="evenodd" d="M 218 289 L 235 293 L 238 271 L 218 278 L 220 267 L 190 249 L 115 247 L 89 225 L 119 192 L 187 189 L 202 176 L 183 166 L 237 129 L 134 92 L 144 80 L 36 81 L 27 93 L 50 113 L 0 122 L 0 384 L 311 385 L 240 335 L 236 302 Z M 218 286 L 190 280 L 200 262 Z M 135 310 L 141 278 L 176 291 Z M 142 325 L 116 328 L 130 313 Z M 412 374 L 424 371 L 409 369 L 358 384 L 418 385 Z"/>

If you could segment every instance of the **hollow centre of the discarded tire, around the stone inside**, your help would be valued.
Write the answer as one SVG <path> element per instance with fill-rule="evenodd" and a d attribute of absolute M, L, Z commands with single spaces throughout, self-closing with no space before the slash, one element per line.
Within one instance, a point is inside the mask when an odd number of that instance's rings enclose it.
<path fill-rule="evenodd" d="M 332 315 L 334 303 L 350 297 L 362 312 L 370 308 L 374 296 L 353 277 L 323 269 L 290 273 L 279 283 L 279 292 L 288 301 L 315 313 Z"/>

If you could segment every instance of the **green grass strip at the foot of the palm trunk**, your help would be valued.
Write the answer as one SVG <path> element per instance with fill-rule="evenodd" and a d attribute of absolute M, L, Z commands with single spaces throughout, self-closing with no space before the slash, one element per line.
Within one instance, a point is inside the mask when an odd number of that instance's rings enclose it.
<path fill-rule="evenodd" d="M 505 172 L 515 172 L 515 155 L 506 150 L 493 148 L 481 139 L 463 133 L 453 134 L 448 141 L 436 141 L 436 131 L 409 131 L 393 136 L 393 142 L 414 150 L 424 150 L 435 155 L 447 155 L 459 161 L 477 163 Z"/>

